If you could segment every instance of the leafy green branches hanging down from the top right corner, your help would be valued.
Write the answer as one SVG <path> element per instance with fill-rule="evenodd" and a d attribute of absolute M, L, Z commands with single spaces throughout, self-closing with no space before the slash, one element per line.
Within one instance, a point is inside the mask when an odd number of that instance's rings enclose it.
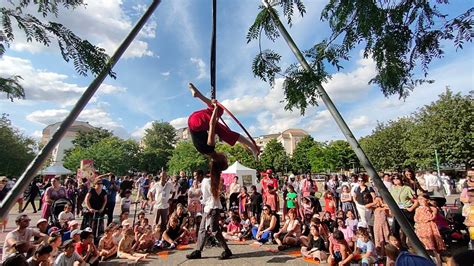
<path fill-rule="evenodd" d="M 284 72 L 285 108 L 297 108 L 304 113 L 308 105 L 317 105 L 315 84 L 330 78 L 327 66 L 339 71 L 341 60 L 349 60 L 350 52 L 359 45 L 364 46 L 364 57 L 371 57 L 376 63 L 377 73 L 370 83 L 379 85 L 385 96 L 404 98 L 415 86 L 432 82 L 425 80 L 429 65 L 433 59 L 443 56 L 444 47 L 449 47 L 442 46 L 441 42 L 450 41 L 456 48 L 463 48 L 474 34 L 474 8 L 459 15 L 448 15 L 441 13 L 438 7 L 443 4 L 448 1 L 329 1 L 321 19 L 328 22 L 332 33 L 303 52 L 312 67 L 311 73 L 297 64 L 290 65 Z M 290 26 L 294 6 L 301 16 L 306 12 L 302 0 L 281 0 L 278 5 Z M 259 8 L 261 11 L 249 28 L 247 42 L 260 39 L 262 32 L 275 41 L 280 36 L 276 24 L 267 8 Z M 275 75 L 281 72 L 280 60 L 278 53 L 260 49 L 252 63 L 254 75 L 273 85 Z M 419 64 L 421 77 L 415 74 Z"/>

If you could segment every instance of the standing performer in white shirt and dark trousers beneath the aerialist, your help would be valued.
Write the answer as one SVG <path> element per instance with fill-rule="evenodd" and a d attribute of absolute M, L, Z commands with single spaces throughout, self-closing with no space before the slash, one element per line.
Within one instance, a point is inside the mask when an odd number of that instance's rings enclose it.
<path fill-rule="evenodd" d="M 221 227 L 219 226 L 220 214 L 222 212 L 221 201 L 219 200 L 219 197 L 214 197 L 214 195 L 212 195 L 210 178 L 206 177 L 203 178 L 202 181 L 198 181 L 201 182 L 201 203 L 204 205 L 204 214 L 201 220 L 201 225 L 199 226 L 197 249 L 194 250 L 191 254 L 186 255 L 186 258 L 201 258 L 201 252 L 204 249 L 204 246 L 206 245 L 207 239 L 209 238 L 209 230 L 224 248 L 224 252 L 222 252 L 219 259 L 228 259 L 230 256 L 232 256 L 232 252 L 227 246 L 224 236 L 222 235 Z"/>

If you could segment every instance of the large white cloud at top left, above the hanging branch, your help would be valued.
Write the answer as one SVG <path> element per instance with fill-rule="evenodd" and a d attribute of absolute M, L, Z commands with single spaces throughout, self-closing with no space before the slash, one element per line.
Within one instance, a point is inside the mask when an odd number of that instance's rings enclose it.
<path fill-rule="evenodd" d="M 131 31 L 135 19 L 132 19 L 124 12 L 122 1 L 110 0 L 85 0 L 85 6 L 75 9 L 59 8 L 59 16 L 48 16 L 42 21 L 55 21 L 68 27 L 72 32 L 81 38 L 87 39 L 112 54 L 121 41 Z M 0 6 L 11 7 L 8 3 Z M 106 10 L 106 12 L 104 12 Z M 37 14 L 34 5 L 25 9 L 25 13 Z M 87 22 L 87 23 L 84 23 Z M 153 56 L 147 39 L 155 38 L 157 23 L 149 21 L 130 45 L 124 54 L 125 58 Z M 38 53 L 45 50 L 57 49 L 57 44 L 53 41 L 51 47 L 46 47 L 36 42 L 27 42 L 24 34 L 18 29 L 15 30 L 15 42 L 11 49 L 14 51 L 28 51 Z"/>

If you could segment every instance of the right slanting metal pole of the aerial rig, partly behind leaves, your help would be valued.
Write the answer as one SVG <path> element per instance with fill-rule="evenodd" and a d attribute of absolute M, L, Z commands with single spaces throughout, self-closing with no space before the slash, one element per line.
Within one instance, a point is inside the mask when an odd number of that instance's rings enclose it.
<path fill-rule="evenodd" d="M 285 39 L 286 43 L 290 47 L 291 51 L 295 54 L 296 58 L 300 62 L 301 66 L 304 68 L 309 73 L 313 73 L 313 70 L 309 66 L 308 62 L 306 62 L 306 59 L 304 58 L 303 54 L 301 51 L 298 49 L 296 46 L 295 42 L 291 38 L 290 34 L 288 31 L 285 29 L 285 26 L 281 23 L 280 19 L 278 18 L 278 15 L 275 13 L 271 5 L 268 3 L 267 0 L 262 0 L 263 4 L 267 8 L 267 10 L 270 12 L 270 15 L 272 16 L 273 21 L 277 25 L 279 31 L 281 32 L 283 38 Z M 354 134 L 352 134 L 351 130 L 347 126 L 346 122 L 342 118 L 341 114 L 337 110 L 336 106 L 332 102 L 331 98 L 329 95 L 326 93 L 324 88 L 321 86 L 321 84 L 316 85 L 318 92 L 321 96 L 322 101 L 328 108 L 329 112 L 331 113 L 332 117 L 336 121 L 337 125 L 341 129 L 342 133 L 346 137 L 347 141 L 351 145 L 352 149 L 354 150 L 355 154 L 357 155 L 357 158 L 359 159 L 361 165 L 365 168 L 369 176 L 372 178 L 375 186 L 378 189 L 378 192 L 380 193 L 380 196 L 384 199 L 384 201 L 387 203 L 388 207 L 390 208 L 390 211 L 393 213 L 395 218 L 397 219 L 398 223 L 400 224 L 401 228 L 407 235 L 407 237 L 410 239 L 410 241 L 413 243 L 413 246 L 415 248 L 415 251 L 418 255 L 423 256 L 427 259 L 430 259 L 430 256 L 425 250 L 425 247 L 423 246 L 423 243 L 418 239 L 418 237 L 415 234 L 415 231 L 413 230 L 413 227 L 411 226 L 410 222 L 408 219 L 405 217 L 403 212 L 400 210 L 398 207 L 397 203 L 395 200 L 392 198 L 392 195 L 390 195 L 390 192 L 388 191 L 387 187 L 384 185 L 382 180 L 380 179 L 379 175 L 377 174 L 377 171 L 375 171 L 375 168 L 373 167 L 372 163 L 370 162 L 369 158 L 365 155 L 365 152 L 362 150 L 362 148 L 359 145 L 359 142 L 357 139 L 354 137 Z"/>

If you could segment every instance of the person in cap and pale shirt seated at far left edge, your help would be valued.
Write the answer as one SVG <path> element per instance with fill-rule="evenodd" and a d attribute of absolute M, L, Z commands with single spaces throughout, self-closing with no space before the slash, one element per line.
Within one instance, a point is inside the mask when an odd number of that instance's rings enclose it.
<path fill-rule="evenodd" d="M 28 228 L 30 226 L 30 218 L 26 214 L 19 215 L 15 219 L 17 228 L 9 232 L 5 237 L 5 242 L 3 243 L 3 256 L 2 258 L 8 257 L 11 253 L 14 252 L 14 244 L 18 241 L 25 241 L 28 243 L 28 253 L 31 256 L 34 251 L 34 245 L 31 244 L 30 240 L 33 236 L 38 237 L 42 241 L 48 239 L 48 235 L 43 234 L 37 230 Z"/>

